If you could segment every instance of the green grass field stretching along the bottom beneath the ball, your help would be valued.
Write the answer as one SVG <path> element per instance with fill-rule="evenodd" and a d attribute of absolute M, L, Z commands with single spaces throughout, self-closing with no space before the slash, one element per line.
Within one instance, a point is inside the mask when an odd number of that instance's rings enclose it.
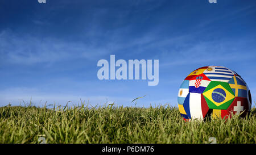
<path fill-rule="evenodd" d="M 256 110 L 246 118 L 184 122 L 170 106 L 0 108 L 0 143 L 255 143 Z"/>

